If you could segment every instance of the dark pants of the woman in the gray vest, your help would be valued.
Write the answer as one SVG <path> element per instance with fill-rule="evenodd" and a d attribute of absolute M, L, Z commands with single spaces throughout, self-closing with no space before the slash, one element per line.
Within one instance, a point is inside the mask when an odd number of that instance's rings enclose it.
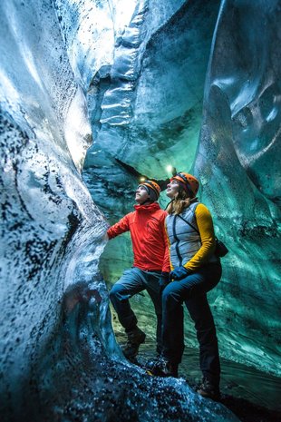
<path fill-rule="evenodd" d="M 163 355 L 170 363 L 179 364 L 184 350 L 183 302 L 195 323 L 199 340 L 199 362 L 205 378 L 219 384 L 218 339 L 209 309 L 207 292 L 220 280 L 220 263 L 208 264 L 188 277 L 172 281 L 162 293 Z"/>

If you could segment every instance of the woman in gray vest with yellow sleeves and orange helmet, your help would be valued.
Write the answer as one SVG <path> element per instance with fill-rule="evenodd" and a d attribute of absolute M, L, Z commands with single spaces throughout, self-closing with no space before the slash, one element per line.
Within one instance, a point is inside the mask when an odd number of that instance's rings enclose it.
<path fill-rule="evenodd" d="M 196 198 L 198 180 L 180 172 L 170 179 L 166 230 L 170 243 L 171 272 L 162 292 L 162 376 L 178 376 L 184 350 L 183 302 L 195 323 L 199 340 L 199 362 L 203 373 L 198 389 L 204 397 L 218 399 L 220 365 L 218 339 L 207 292 L 221 277 L 215 255 L 216 242 L 208 208 Z"/>

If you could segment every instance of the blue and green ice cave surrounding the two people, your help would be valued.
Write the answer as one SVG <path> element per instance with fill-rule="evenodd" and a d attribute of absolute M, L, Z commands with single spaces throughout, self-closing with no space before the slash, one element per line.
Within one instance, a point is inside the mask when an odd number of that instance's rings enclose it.
<path fill-rule="evenodd" d="M 280 0 L 0 3 L 2 422 L 281 419 Z M 279 145 L 279 146 L 278 146 Z M 208 294 L 221 402 L 124 358 L 109 290 L 139 176 L 195 174 L 229 253 Z M 160 194 L 160 207 L 168 198 Z M 131 299 L 155 352 L 146 292 Z M 243 413 L 243 409 L 246 409 Z"/>

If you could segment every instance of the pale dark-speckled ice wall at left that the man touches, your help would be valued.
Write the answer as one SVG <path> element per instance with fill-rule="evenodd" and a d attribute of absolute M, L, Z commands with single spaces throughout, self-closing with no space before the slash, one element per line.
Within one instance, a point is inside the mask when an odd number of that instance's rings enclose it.
<path fill-rule="evenodd" d="M 115 44 L 106 50 L 108 35 L 131 20 L 138 33 L 148 4 L 137 5 L 129 20 L 120 16 L 125 4 L 0 4 L 3 421 L 237 420 L 183 380 L 150 378 L 128 366 L 111 330 L 98 270 L 107 222 L 80 174 L 91 142 L 84 93 L 92 80 L 91 65 L 81 59 L 95 60 L 98 52 L 111 64 Z M 121 41 L 120 52 L 125 48 Z M 116 89 L 127 69 L 117 57 Z"/>

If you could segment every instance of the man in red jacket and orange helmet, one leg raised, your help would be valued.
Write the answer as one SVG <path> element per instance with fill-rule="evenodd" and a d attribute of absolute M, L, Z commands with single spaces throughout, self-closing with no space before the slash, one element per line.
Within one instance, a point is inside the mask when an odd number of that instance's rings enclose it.
<path fill-rule="evenodd" d="M 111 303 L 128 337 L 123 353 L 126 358 L 135 358 L 145 333 L 138 327 L 138 319 L 131 309 L 129 299 L 142 290 L 147 290 L 157 316 L 157 352 L 161 352 L 161 300 L 160 285 L 170 271 L 169 250 L 164 228 L 166 211 L 157 202 L 160 186 L 153 181 L 141 182 L 137 188 L 135 211 L 125 215 L 107 231 L 112 239 L 125 231 L 131 232 L 133 266 L 125 270 L 110 291 Z"/>

